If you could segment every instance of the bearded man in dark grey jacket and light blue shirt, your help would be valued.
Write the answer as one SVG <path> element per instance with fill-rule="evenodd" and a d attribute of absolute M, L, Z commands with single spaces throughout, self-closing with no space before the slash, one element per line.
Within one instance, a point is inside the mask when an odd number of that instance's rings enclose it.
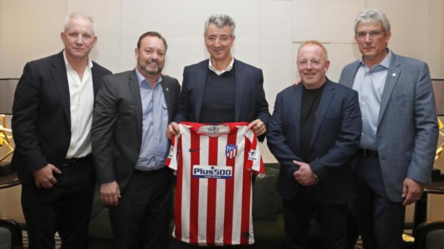
<path fill-rule="evenodd" d="M 165 135 L 176 114 L 178 80 L 161 75 L 167 42 L 137 42 L 133 71 L 103 78 L 92 124 L 101 199 L 110 205 L 115 248 L 167 248 L 172 173 Z"/>

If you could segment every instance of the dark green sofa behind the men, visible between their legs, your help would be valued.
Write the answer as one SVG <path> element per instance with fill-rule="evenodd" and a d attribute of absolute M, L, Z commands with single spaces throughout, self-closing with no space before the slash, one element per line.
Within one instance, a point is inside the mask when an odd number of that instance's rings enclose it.
<path fill-rule="evenodd" d="M 278 163 L 266 163 L 266 176 L 255 178 L 253 185 L 253 225 L 255 245 L 252 248 L 284 248 L 284 217 L 282 201 L 276 192 L 279 174 Z M 173 221 L 171 221 L 171 231 Z M 311 221 L 310 248 L 322 248 L 321 232 L 316 219 Z M 112 248 L 112 230 L 108 208 L 101 201 L 99 188 L 96 189 L 88 228 L 88 248 Z M 170 248 L 180 248 L 179 242 L 171 236 Z"/>

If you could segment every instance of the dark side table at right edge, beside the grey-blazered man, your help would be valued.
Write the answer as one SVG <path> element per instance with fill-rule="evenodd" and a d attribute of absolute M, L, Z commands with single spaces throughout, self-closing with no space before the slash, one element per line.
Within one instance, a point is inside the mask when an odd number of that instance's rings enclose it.
<path fill-rule="evenodd" d="M 431 185 L 424 186 L 421 198 L 416 201 L 415 212 L 413 214 L 413 234 L 416 227 L 427 221 L 427 195 L 444 194 L 444 181 L 433 181 Z"/>

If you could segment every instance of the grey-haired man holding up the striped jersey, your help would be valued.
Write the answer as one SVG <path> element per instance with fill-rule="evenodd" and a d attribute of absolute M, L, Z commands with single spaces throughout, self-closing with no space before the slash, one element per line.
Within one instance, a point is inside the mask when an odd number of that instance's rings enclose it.
<path fill-rule="evenodd" d="M 249 122 L 259 140 L 264 140 L 270 119 L 262 70 L 231 54 L 236 24 L 228 15 L 212 15 L 205 22 L 205 46 L 210 59 L 186 66 L 178 114 L 168 136 L 178 133 L 178 122 Z"/>

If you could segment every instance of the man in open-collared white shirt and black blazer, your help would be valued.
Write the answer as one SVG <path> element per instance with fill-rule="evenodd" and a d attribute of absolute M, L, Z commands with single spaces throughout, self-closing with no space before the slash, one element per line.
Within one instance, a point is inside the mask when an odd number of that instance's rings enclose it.
<path fill-rule="evenodd" d="M 90 140 L 94 96 L 111 72 L 89 59 L 91 17 L 73 13 L 60 34 L 65 50 L 28 62 L 12 107 L 15 167 L 30 248 L 84 248 L 94 194 Z"/>

